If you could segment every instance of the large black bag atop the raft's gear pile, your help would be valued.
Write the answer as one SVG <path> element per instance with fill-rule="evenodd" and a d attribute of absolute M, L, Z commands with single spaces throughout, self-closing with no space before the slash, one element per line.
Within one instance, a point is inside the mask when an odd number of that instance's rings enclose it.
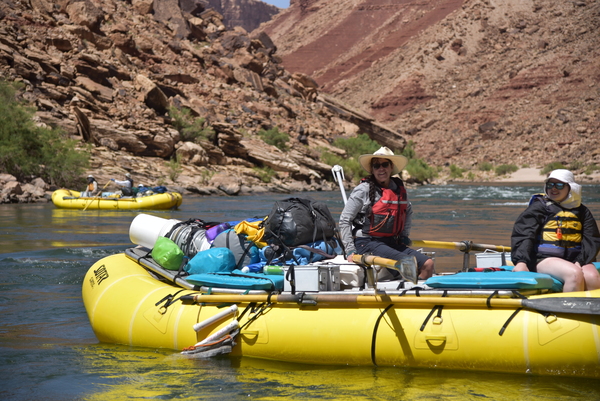
<path fill-rule="evenodd" d="M 275 202 L 263 225 L 265 241 L 287 247 L 326 241 L 337 234 L 327 205 L 312 199 L 288 198 Z"/>

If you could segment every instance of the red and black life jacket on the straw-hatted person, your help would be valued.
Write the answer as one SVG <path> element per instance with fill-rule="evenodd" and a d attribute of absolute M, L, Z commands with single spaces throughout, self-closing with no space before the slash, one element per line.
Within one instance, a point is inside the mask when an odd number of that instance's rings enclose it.
<path fill-rule="evenodd" d="M 404 230 L 408 200 L 402 180 L 392 177 L 396 191 L 378 187 L 381 198 L 371 206 L 371 216 L 365 221 L 362 232 L 374 237 L 395 237 Z"/>

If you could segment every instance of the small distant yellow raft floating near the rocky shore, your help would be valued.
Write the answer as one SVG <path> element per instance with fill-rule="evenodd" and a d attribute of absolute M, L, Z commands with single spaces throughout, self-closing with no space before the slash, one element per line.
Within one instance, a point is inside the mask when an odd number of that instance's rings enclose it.
<path fill-rule="evenodd" d="M 182 197 L 177 192 L 165 192 L 149 196 L 119 197 L 96 196 L 81 197 L 81 193 L 69 189 L 58 189 L 52 193 L 52 203 L 63 209 L 151 209 L 166 210 L 174 209 L 181 205 Z"/>

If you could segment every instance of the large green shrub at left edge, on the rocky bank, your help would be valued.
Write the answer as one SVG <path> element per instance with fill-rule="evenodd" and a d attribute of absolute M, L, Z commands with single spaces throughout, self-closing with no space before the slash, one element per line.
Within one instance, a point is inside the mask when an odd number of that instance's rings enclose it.
<path fill-rule="evenodd" d="M 19 181 L 39 176 L 50 184 L 69 187 L 83 184 L 89 166 L 87 149 L 61 130 L 38 127 L 35 109 L 19 103 L 16 84 L 0 80 L 0 171 Z"/>

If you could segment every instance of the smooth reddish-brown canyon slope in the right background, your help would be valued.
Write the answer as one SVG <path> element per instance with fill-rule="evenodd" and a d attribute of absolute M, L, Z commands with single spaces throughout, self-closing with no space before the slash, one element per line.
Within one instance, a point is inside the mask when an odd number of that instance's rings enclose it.
<path fill-rule="evenodd" d="M 598 1 L 292 0 L 259 30 L 431 165 L 600 165 Z"/>

